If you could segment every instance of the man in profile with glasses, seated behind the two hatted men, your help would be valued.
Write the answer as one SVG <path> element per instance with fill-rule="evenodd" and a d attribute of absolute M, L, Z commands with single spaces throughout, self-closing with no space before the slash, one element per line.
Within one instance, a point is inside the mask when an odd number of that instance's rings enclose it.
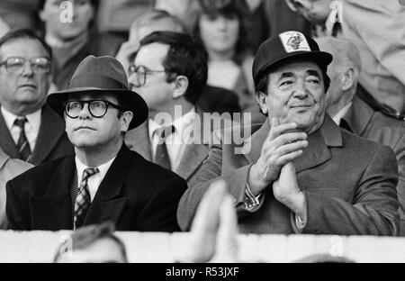
<path fill-rule="evenodd" d="M 203 120 L 197 104 L 206 79 L 206 51 L 190 34 L 179 32 L 153 32 L 143 38 L 130 71 L 130 86 L 147 102 L 149 116 L 148 122 L 127 133 L 125 143 L 145 159 L 173 170 L 188 186 L 195 184 L 208 158 L 211 131 L 221 125 L 220 118 L 213 125 Z M 171 120 L 164 122 L 161 114 Z M 207 124 L 210 131 L 204 129 Z"/>

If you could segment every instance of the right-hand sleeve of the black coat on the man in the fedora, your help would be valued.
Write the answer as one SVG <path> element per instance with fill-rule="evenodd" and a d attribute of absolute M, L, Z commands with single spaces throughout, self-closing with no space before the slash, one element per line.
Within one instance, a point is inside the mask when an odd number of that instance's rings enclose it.
<path fill-rule="evenodd" d="M 139 213 L 139 231 L 180 231 L 176 212 L 180 197 L 187 189 L 187 184 L 182 177 L 173 174 L 173 177 L 156 188 L 148 204 Z"/>

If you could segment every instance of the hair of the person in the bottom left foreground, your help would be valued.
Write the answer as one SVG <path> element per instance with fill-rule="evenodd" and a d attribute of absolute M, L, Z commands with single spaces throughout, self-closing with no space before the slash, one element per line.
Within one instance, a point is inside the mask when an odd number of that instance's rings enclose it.
<path fill-rule="evenodd" d="M 77 229 L 58 247 L 53 261 L 57 262 L 58 258 L 64 254 L 67 254 L 69 250 L 85 249 L 95 241 L 110 239 L 117 243 L 121 249 L 122 258 L 125 262 L 128 262 L 125 245 L 118 237 L 112 234 L 114 229 L 115 227 L 112 222 L 92 224 Z"/>

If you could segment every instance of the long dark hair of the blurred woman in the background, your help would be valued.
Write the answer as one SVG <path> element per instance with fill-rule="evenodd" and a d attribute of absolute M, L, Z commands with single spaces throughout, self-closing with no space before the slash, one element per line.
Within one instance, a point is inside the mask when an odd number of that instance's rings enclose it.
<path fill-rule="evenodd" d="M 235 54 L 232 58 L 238 65 L 243 62 L 248 50 L 247 38 L 247 10 L 248 7 L 243 0 L 228 0 L 228 1 L 218 1 L 218 0 L 199 0 L 202 7 L 199 18 L 202 14 L 209 15 L 223 15 L 229 17 L 236 14 L 239 22 L 239 32 L 238 40 L 235 46 Z M 200 34 L 200 21 L 199 19 L 195 22 L 193 28 L 193 34 L 195 38 L 202 41 Z"/>

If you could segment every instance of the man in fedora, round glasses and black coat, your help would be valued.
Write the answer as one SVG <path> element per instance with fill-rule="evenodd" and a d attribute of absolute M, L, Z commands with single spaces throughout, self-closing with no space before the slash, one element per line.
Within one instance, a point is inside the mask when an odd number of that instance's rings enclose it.
<path fill-rule="evenodd" d="M 184 179 L 143 159 L 124 134 L 148 117 L 118 60 L 85 58 L 66 90 L 47 97 L 66 122 L 75 156 L 56 159 L 7 183 L 13 230 L 76 229 L 112 221 L 118 231 L 177 231 Z"/>

